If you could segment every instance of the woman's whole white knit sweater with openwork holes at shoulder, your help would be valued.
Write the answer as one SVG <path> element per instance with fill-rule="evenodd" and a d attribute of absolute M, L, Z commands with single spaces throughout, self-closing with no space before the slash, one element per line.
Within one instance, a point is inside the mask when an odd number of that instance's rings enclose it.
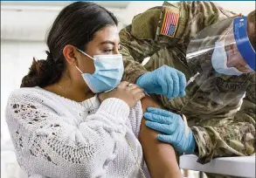
<path fill-rule="evenodd" d="M 131 110 L 114 98 L 79 103 L 40 87 L 12 92 L 6 108 L 17 161 L 37 178 L 141 177 L 141 120 L 140 102 Z"/>

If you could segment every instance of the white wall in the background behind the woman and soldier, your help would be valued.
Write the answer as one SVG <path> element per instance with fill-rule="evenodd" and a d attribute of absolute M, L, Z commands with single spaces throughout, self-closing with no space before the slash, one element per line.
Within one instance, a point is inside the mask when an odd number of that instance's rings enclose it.
<path fill-rule="evenodd" d="M 130 24 L 132 18 L 163 2 L 104 2 L 121 21 L 120 28 Z M 224 9 L 246 15 L 255 10 L 255 2 L 218 2 Z M 11 91 L 20 86 L 21 79 L 28 72 L 32 58 L 45 58 L 45 32 L 66 2 L 1 2 L 1 177 L 7 175 L 15 160 L 10 149 L 10 135 L 4 119 L 4 110 Z M 10 162 L 10 164 L 7 164 Z M 4 172 L 4 170 L 6 170 Z"/>

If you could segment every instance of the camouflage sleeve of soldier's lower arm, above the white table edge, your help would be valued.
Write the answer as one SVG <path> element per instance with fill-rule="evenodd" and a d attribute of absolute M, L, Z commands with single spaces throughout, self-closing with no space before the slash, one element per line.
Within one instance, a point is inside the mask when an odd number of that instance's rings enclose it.
<path fill-rule="evenodd" d="M 198 162 L 207 163 L 214 157 L 255 153 L 255 72 L 249 82 L 246 97 L 231 124 L 227 127 L 191 127 L 197 141 Z"/>

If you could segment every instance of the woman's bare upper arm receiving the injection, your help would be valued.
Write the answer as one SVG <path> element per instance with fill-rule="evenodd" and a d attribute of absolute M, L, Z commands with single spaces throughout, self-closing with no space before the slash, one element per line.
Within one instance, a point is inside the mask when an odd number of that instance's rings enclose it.
<path fill-rule="evenodd" d="M 161 108 L 155 100 L 147 97 L 142 99 L 142 110 L 146 112 L 147 107 L 154 106 Z M 156 131 L 145 126 L 145 119 L 142 119 L 139 140 L 142 144 L 143 156 L 149 168 L 152 178 L 182 177 L 176 161 L 176 154 L 170 144 L 160 142 L 156 139 Z"/>

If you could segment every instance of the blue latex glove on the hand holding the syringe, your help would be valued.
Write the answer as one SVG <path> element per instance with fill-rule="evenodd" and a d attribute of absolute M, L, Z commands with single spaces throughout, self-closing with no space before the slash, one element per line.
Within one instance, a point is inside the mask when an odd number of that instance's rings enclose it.
<path fill-rule="evenodd" d="M 163 65 L 153 72 L 144 73 L 136 82 L 145 92 L 163 94 L 168 99 L 184 96 L 186 83 L 183 72 L 167 65 Z"/>

